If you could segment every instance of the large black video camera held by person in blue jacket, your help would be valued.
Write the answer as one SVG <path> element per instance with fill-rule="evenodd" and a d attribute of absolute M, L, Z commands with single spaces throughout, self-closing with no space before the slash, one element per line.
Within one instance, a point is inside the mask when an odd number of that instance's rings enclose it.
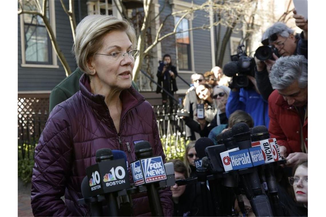
<path fill-rule="evenodd" d="M 249 85 L 247 75 L 255 76 L 255 60 L 248 57 L 246 52 L 242 49 L 244 45 L 237 48 L 237 54 L 231 55 L 231 61 L 224 65 L 223 73 L 232 77 L 232 88 L 245 88 Z"/>

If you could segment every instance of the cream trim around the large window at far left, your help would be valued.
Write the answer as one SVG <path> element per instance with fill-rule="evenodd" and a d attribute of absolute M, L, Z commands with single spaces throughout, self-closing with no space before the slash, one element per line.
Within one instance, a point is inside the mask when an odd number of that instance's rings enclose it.
<path fill-rule="evenodd" d="M 49 1 L 49 16 L 50 16 L 50 25 L 53 30 L 54 37 L 56 38 L 55 31 L 55 9 L 54 9 L 54 1 Z M 21 30 L 21 50 L 22 50 L 22 63 L 21 67 L 30 67 L 30 68 L 59 68 L 57 61 L 57 54 L 55 53 L 54 48 L 52 47 L 52 64 L 28 64 L 26 63 L 25 57 L 25 31 L 24 31 L 24 15 L 20 15 L 20 30 Z M 52 46 L 52 45 L 51 45 Z"/>

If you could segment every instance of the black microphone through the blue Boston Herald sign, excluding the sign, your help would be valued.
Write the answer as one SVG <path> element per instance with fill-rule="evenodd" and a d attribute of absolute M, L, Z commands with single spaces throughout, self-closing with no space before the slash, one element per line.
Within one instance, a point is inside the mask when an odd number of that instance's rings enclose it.
<path fill-rule="evenodd" d="M 246 123 L 237 123 L 232 127 L 233 137 L 240 150 L 251 148 L 250 130 Z M 250 158 L 250 156 L 248 156 Z M 257 168 L 251 168 L 249 180 L 254 196 L 248 198 L 256 216 L 273 216 L 268 197 L 263 194 Z M 247 175 L 245 175 L 247 176 Z"/>

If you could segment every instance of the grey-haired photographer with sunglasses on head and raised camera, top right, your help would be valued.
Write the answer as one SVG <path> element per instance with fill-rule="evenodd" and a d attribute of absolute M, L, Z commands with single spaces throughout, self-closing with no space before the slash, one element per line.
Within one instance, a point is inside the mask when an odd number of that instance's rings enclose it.
<path fill-rule="evenodd" d="M 268 74 L 275 61 L 281 56 L 291 55 L 304 55 L 308 59 L 308 20 L 295 10 L 293 13 L 296 25 L 303 30 L 301 34 L 294 35 L 294 31 L 287 25 L 276 22 L 264 32 L 261 42 L 264 46 L 256 50 L 255 78 L 259 92 L 266 101 L 274 90 Z"/>

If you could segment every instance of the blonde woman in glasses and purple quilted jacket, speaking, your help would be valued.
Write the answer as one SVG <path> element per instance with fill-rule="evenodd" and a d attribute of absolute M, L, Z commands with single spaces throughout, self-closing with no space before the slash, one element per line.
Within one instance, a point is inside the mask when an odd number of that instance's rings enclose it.
<path fill-rule="evenodd" d="M 56 105 L 35 149 L 31 205 L 35 216 L 85 216 L 82 198 L 85 169 L 96 164 L 101 148 L 122 150 L 136 160 L 135 144 L 148 141 L 162 156 L 151 104 L 131 87 L 136 34 L 127 20 L 107 15 L 86 16 L 76 28 L 74 54 L 84 72 L 80 91 Z M 133 183 L 130 166 L 129 181 Z M 172 193 L 159 193 L 165 216 L 172 213 Z M 61 197 L 65 197 L 65 202 Z M 133 195 L 133 215 L 151 215 L 146 194 Z"/>

